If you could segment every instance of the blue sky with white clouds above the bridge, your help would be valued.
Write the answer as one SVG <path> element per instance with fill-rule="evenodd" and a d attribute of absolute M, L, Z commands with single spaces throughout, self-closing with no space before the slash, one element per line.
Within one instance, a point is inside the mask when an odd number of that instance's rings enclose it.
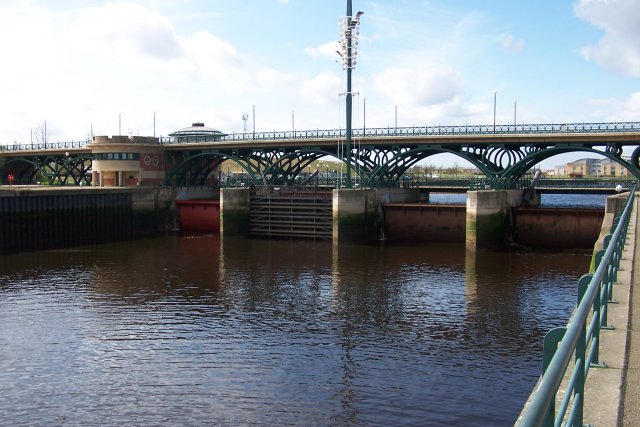
<path fill-rule="evenodd" d="M 640 120 L 637 0 L 353 0 L 354 126 Z M 345 126 L 346 0 L 3 0 L 0 143 Z M 516 101 L 517 100 L 517 101 Z M 366 105 L 366 108 L 364 108 Z M 255 106 L 255 107 L 254 107 Z M 366 112 L 366 114 L 365 114 Z M 120 118 L 120 122 L 119 122 Z"/>

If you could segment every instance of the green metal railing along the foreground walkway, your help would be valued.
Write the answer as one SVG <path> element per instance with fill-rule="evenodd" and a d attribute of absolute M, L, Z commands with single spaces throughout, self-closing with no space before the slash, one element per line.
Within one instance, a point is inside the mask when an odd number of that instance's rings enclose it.
<path fill-rule="evenodd" d="M 589 368 L 600 363 L 600 331 L 608 327 L 607 307 L 613 298 L 613 283 L 617 280 L 635 191 L 634 186 L 611 227 L 611 234 L 605 238 L 604 249 L 596 253 L 595 272 L 578 280 L 578 305 L 569 323 L 552 329 L 544 338 L 542 376 L 516 422 L 519 427 L 583 426 L 584 384 Z M 556 396 L 572 359 L 573 372 L 556 411 Z"/>

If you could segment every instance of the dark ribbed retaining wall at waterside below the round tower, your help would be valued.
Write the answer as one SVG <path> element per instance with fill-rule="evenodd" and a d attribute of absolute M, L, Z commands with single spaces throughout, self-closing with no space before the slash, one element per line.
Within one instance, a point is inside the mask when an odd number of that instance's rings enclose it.
<path fill-rule="evenodd" d="M 0 253 L 157 235 L 173 221 L 171 189 L 39 187 L 0 191 Z"/>

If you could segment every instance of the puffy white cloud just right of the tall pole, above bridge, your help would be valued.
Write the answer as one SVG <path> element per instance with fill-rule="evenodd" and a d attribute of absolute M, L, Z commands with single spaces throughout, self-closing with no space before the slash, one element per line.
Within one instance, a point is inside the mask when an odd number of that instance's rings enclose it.
<path fill-rule="evenodd" d="M 374 77 L 377 92 L 394 104 L 408 107 L 450 102 L 461 93 L 462 86 L 462 77 L 456 70 L 433 63 L 386 68 Z"/>

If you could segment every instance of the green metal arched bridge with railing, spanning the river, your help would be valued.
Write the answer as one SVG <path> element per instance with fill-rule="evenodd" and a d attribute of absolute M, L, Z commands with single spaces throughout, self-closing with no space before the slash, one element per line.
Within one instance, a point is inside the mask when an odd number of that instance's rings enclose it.
<path fill-rule="evenodd" d="M 525 174 L 558 154 L 585 152 L 619 163 L 640 179 L 640 122 L 354 129 L 346 153 L 344 129 L 233 133 L 206 138 L 159 138 L 167 185 L 204 185 L 231 160 L 255 185 L 294 185 L 316 161 L 350 159 L 361 187 L 401 186 L 407 171 L 449 153 L 475 166 L 492 189 L 517 188 Z M 0 146 L 0 179 L 87 183 L 91 141 Z M 625 154 L 625 148 L 627 153 Z M 356 178 L 357 176 L 357 178 Z"/>

